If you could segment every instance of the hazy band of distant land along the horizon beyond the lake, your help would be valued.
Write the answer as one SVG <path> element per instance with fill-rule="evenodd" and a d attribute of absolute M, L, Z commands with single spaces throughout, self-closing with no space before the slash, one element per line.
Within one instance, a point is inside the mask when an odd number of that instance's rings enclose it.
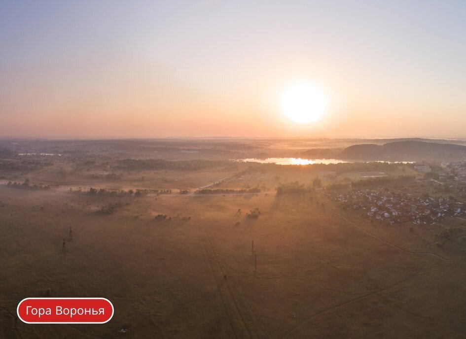
<path fill-rule="evenodd" d="M 236 160 L 295 157 L 346 161 L 466 160 L 466 139 L 362 138 L 160 138 L 48 140 L 1 139 L 0 159 L 51 153 L 102 160 Z M 40 157 L 40 156 L 39 156 Z"/>

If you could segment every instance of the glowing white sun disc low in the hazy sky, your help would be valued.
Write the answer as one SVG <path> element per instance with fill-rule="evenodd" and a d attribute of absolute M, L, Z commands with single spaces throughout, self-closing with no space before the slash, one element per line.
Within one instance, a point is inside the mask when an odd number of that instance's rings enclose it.
<path fill-rule="evenodd" d="M 288 87 L 282 95 L 283 113 L 298 124 L 318 121 L 325 111 L 326 104 L 323 92 L 305 82 Z"/>

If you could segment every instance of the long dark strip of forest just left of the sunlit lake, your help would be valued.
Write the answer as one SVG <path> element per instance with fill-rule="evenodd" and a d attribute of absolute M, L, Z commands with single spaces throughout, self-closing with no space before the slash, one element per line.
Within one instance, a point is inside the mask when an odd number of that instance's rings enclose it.
<path fill-rule="evenodd" d="M 201 170 L 228 164 L 228 161 L 213 160 L 125 159 L 118 161 L 116 168 L 125 170 Z"/>

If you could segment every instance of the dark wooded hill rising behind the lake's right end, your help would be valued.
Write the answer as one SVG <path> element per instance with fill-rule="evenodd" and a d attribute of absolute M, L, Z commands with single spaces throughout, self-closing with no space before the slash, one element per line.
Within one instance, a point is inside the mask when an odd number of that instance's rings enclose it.
<path fill-rule="evenodd" d="M 344 148 L 338 156 L 344 160 L 364 161 L 466 160 L 466 146 L 406 140 L 388 142 L 383 145 L 353 145 Z"/>

